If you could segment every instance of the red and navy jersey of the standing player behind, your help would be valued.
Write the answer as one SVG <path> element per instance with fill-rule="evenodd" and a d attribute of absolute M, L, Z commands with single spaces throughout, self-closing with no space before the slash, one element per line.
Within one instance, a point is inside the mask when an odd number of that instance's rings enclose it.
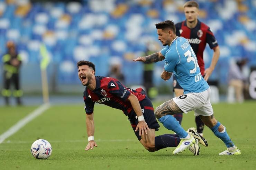
<path fill-rule="evenodd" d="M 192 49 L 196 54 L 201 74 L 203 75 L 203 51 L 205 49 L 206 43 L 209 44 L 211 49 L 214 49 L 218 46 L 217 40 L 215 39 L 213 33 L 206 24 L 200 22 L 199 20 L 194 28 L 187 27 L 186 20 L 176 23 L 175 28 L 177 36 L 184 37 L 189 41 Z"/>

